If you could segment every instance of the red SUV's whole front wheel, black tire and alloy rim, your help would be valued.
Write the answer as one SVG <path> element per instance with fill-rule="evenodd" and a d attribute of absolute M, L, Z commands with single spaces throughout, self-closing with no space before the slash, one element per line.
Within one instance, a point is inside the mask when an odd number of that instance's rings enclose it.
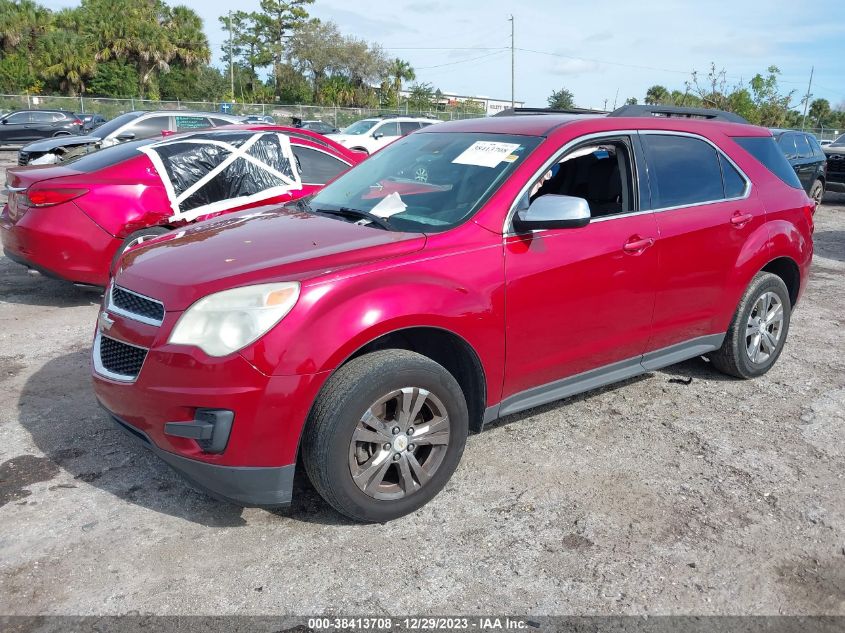
<path fill-rule="evenodd" d="M 338 512 L 383 523 L 440 492 L 467 429 L 466 400 L 446 369 L 406 350 L 373 352 L 326 383 L 303 433 L 303 462 Z"/>

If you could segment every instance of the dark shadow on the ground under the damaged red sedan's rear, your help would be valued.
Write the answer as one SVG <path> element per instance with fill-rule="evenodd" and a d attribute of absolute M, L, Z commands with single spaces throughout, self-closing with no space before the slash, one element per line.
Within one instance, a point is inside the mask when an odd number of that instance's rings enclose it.
<path fill-rule="evenodd" d="M 0 303 L 62 308 L 100 303 L 102 290 L 74 286 L 0 256 Z"/>

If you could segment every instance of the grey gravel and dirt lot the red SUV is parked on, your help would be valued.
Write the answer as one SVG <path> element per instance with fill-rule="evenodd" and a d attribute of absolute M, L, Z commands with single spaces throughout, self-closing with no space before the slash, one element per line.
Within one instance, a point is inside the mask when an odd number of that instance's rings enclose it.
<path fill-rule="evenodd" d="M 99 297 L 0 257 L 0 613 L 845 614 L 845 196 L 753 382 L 694 360 L 506 418 L 350 524 L 194 492 L 89 387 Z M 689 379 L 692 382 L 689 382 Z"/>

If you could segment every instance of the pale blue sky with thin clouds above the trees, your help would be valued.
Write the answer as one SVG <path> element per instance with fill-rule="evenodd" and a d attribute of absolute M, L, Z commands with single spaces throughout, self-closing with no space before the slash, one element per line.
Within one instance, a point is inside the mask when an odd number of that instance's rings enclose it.
<path fill-rule="evenodd" d="M 175 3 L 175 2 L 172 2 Z M 76 4 L 43 2 L 50 7 Z M 226 34 L 218 16 L 254 10 L 224 0 L 184 0 L 205 20 L 215 62 Z M 778 66 L 799 101 L 815 66 L 813 98 L 845 108 L 845 5 L 819 0 L 316 0 L 313 16 L 379 42 L 411 62 L 420 81 L 444 92 L 509 99 L 510 23 L 516 25 L 516 97 L 543 106 L 566 87 L 583 107 L 642 101 L 660 83 L 683 90 L 710 62 L 730 83 Z"/>

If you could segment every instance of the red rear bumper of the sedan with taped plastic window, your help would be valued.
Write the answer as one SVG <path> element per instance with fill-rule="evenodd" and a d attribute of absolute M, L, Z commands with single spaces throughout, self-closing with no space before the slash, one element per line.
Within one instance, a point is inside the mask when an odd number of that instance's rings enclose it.
<path fill-rule="evenodd" d="M 121 240 L 68 202 L 28 209 L 16 222 L 0 214 L 0 238 L 10 259 L 73 283 L 105 286 Z"/>

